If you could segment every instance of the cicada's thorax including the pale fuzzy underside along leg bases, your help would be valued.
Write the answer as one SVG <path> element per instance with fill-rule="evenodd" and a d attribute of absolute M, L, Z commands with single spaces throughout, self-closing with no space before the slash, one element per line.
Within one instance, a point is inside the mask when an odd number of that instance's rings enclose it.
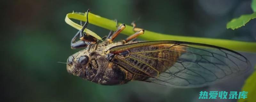
<path fill-rule="evenodd" d="M 103 85 L 124 84 L 133 77 L 131 72 L 109 61 L 105 51 L 110 47 L 121 45 L 122 43 L 113 43 L 106 45 L 99 44 L 96 51 L 90 53 L 89 66 L 85 69 L 85 78 L 88 81 Z"/>

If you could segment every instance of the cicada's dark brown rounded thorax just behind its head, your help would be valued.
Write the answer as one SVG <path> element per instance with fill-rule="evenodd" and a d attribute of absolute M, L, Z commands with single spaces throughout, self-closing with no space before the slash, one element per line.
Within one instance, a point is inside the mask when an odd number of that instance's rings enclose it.
<path fill-rule="evenodd" d="M 125 70 L 109 62 L 105 56 L 92 59 L 89 64 L 85 73 L 89 81 L 103 85 L 124 84 L 127 81 Z"/>

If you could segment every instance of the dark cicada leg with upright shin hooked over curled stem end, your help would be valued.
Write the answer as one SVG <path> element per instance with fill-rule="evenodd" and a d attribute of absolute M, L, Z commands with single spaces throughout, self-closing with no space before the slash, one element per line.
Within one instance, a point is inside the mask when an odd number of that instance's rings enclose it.
<path fill-rule="evenodd" d="M 84 32 L 84 29 L 87 27 L 87 25 L 89 24 L 88 21 L 88 14 L 89 14 L 90 9 L 87 10 L 87 16 L 86 16 L 86 22 L 83 25 L 83 28 L 80 30 L 80 40 L 83 41 L 87 41 L 87 42 L 92 42 L 92 43 L 96 43 L 97 39 L 87 33 Z"/>

